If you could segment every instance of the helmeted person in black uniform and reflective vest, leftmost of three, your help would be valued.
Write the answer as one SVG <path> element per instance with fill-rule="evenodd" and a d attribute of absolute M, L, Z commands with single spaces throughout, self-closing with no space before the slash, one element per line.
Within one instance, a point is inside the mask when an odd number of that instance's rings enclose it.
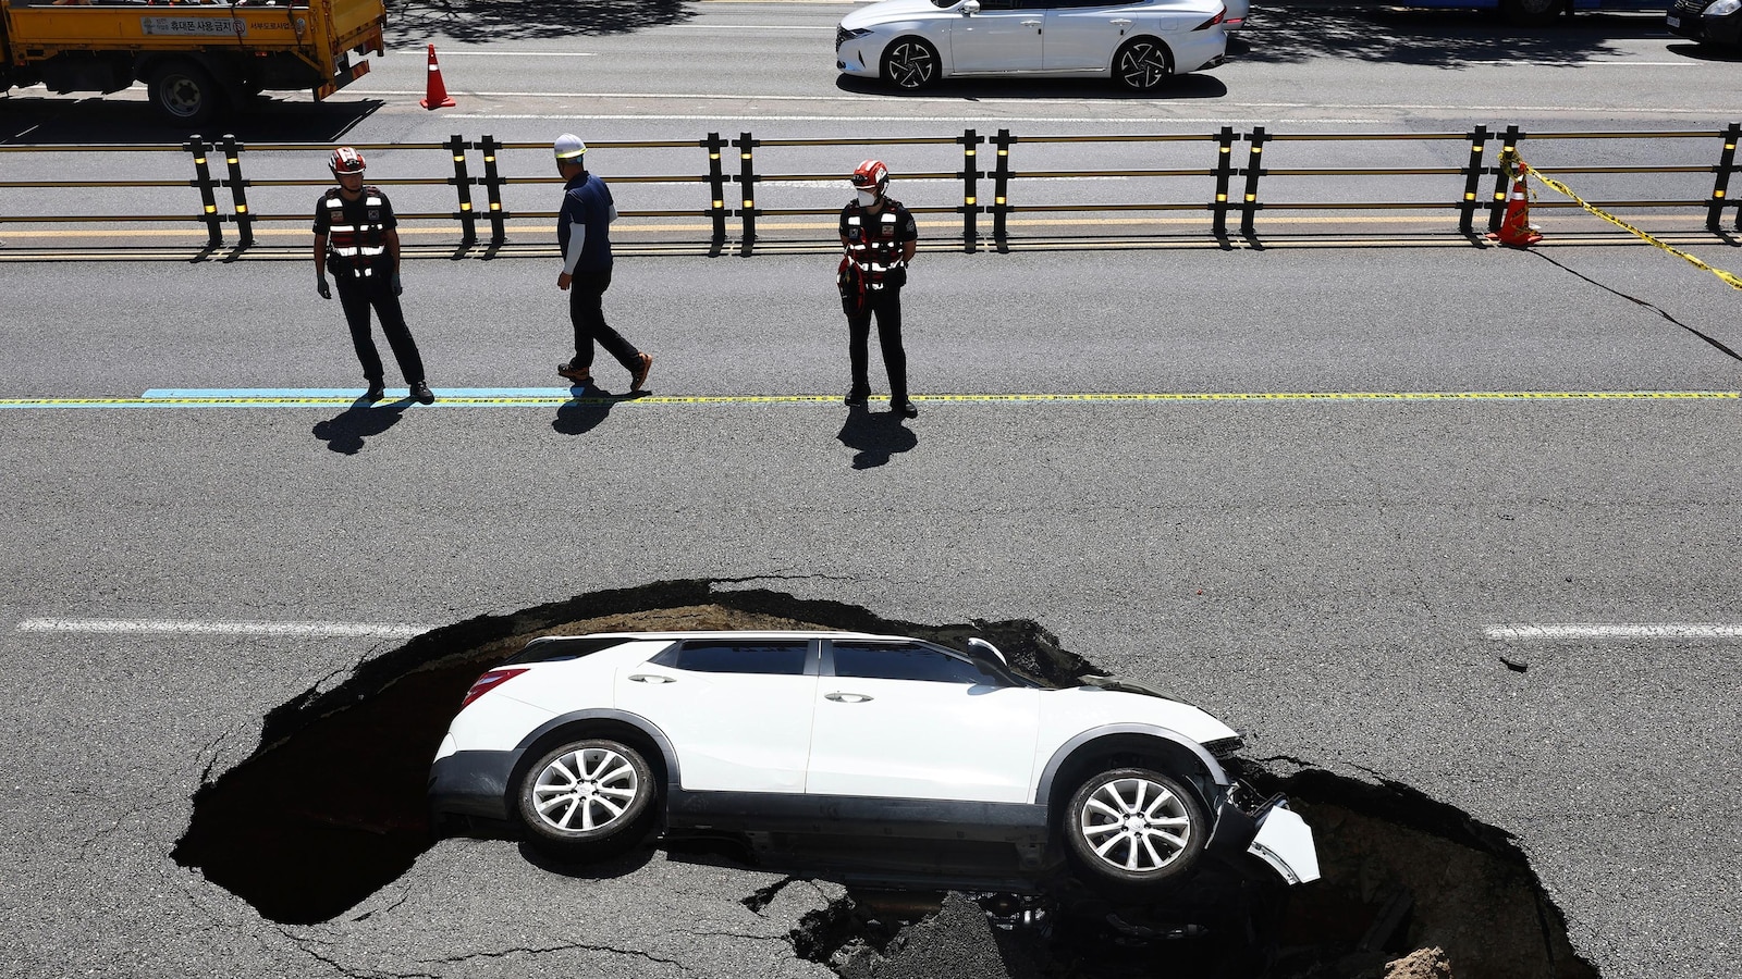
<path fill-rule="evenodd" d="M 333 150 L 327 160 L 338 186 L 315 202 L 315 291 L 322 300 L 333 298 L 326 280 L 331 267 L 338 280 L 338 301 L 350 324 L 350 341 L 362 362 L 362 376 L 369 381 L 364 399 L 381 401 L 387 394 L 381 355 L 369 333 L 369 307 L 375 307 L 411 397 L 420 404 L 434 404 L 436 395 L 423 380 L 423 357 L 418 355 L 418 343 L 399 308 L 399 294 L 404 291 L 399 284 L 399 219 L 381 188 L 362 185 L 364 165 L 362 153 L 350 146 Z"/>

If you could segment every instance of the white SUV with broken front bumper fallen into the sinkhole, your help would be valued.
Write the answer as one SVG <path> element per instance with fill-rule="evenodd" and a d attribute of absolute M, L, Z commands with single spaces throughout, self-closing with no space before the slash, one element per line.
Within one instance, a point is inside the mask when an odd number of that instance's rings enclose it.
<path fill-rule="evenodd" d="M 1153 895 L 1205 857 L 1315 880 L 1312 829 L 1218 760 L 1239 744 L 1141 685 L 1043 686 L 984 639 L 620 632 L 533 639 L 483 674 L 429 793 L 437 824 L 582 859 L 665 829 L 833 850 L 838 876 L 894 885 Z"/>

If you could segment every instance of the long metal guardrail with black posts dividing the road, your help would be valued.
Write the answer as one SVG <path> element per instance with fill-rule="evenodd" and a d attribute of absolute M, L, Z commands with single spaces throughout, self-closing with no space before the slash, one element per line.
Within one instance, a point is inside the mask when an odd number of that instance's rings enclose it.
<path fill-rule="evenodd" d="M 1556 174 L 1711 174 L 1711 192 L 1702 199 L 1664 199 L 1664 197 L 1634 197 L 1634 199 L 1592 199 L 1590 202 L 1603 209 L 1695 209 L 1704 211 L 1704 228 L 1711 233 L 1721 233 L 1725 209 L 1733 207 L 1728 197 L 1730 174 L 1737 171 L 1735 150 L 1737 141 L 1742 138 L 1742 124 L 1732 122 L 1725 129 L 1697 129 L 1697 131 L 1643 131 L 1643 132 L 1533 132 L 1526 134 L 1517 125 L 1509 125 L 1500 132 L 1489 131 L 1486 125 L 1475 125 L 1469 132 L 1392 132 L 1392 134 L 1279 134 L 1270 132 L 1265 127 L 1252 127 L 1251 131 L 1237 132 L 1232 125 L 1223 125 L 1216 132 L 1200 134 L 1127 134 L 1127 136 L 1019 136 L 1012 134 L 1009 129 L 998 129 L 991 136 L 984 136 L 976 129 L 967 129 L 960 136 L 935 136 L 935 138 L 887 138 L 887 139 L 758 139 L 751 132 L 742 132 L 735 139 L 721 138 L 718 132 L 709 132 L 704 139 L 695 141 L 596 141 L 591 145 L 592 152 L 610 153 L 613 164 L 620 162 L 624 152 L 658 152 L 664 155 L 686 153 L 690 150 L 699 150 L 706 155 L 706 162 L 699 167 L 699 172 L 679 172 L 679 174 L 625 174 L 615 169 L 604 174 L 613 186 L 622 185 L 674 185 L 674 186 L 695 186 L 706 190 L 706 202 L 697 202 L 699 206 L 688 207 L 652 207 L 652 209 L 620 209 L 620 216 L 631 221 L 669 221 L 669 219 L 693 219 L 704 218 L 707 221 L 707 237 L 702 240 L 667 240 L 667 247 L 676 247 L 681 251 L 704 251 L 706 254 L 723 254 L 726 251 L 737 251 L 739 254 L 754 254 L 760 247 L 763 251 L 833 251 L 838 247 L 838 237 L 834 233 L 831 221 L 819 221 L 815 225 L 805 225 L 805 228 L 822 232 L 819 235 L 803 237 L 798 240 L 780 240 L 772 239 L 763 233 L 765 218 L 803 218 L 803 216 L 827 216 L 838 214 L 840 206 L 831 204 L 826 207 L 772 207 L 758 204 L 763 188 L 777 188 L 780 185 L 817 185 L 838 181 L 845 190 L 847 181 L 841 178 L 841 171 L 815 172 L 815 171 L 770 171 L 761 165 L 761 162 L 773 152 L 787 152 L 800 148 L 838 148 L 838 146 L 855 146 L 859 150 L 874 152 L 888 157 L 888 150 L 894 146 L 960 146 L 960 169 L 932 169 L 932 171 L 908 171 L 902 169 L 899 178 L 906 181 L 948 181 L 960 183 L 960 195 L 951 195 L 949 204 L 942 206 L 913 206 L 909 209 L 916 214 L 955 214 L 962 221 L 960 237 L 951 237 L 948 247 L 960 246 L 962 251 L 974 253 L 982 247 L 995 251 L 1010 251 L 1012 247 L 1021 247 L 1024 244 L 1036 244 L 1036 239 L 1024 239 L 1014 233 L 1012 216 L 1017 214 L 1108 214 L 1108 213 L 1146 213 L 1146 214 L 1169 214 L 1169 213 L 1200 213 L 1205 216 L 1202 226 L 1186 228 L 1183 232 L 1188 239 L 1207 239 L 1216 242 L 1228 242 L 1233 237 L 1259 240 L 1259 223 L 1265 213 L 1284 213 L 1284 211 L 1322 211 L 1322 213 L 1348 213 L 1348 211 L 1427 211 L 1427 213 L 1455 213 L 1456 214 L 1456 235 L 1467 237 L 1470 240 L 1481 240 L 1481 230 L 1477 221 L 1486 211 L 1486 228 L 1495 230 L 1500 226 L 1505 202 L 1507 202 L 1507 183 L 1505 172 L 1498 162 L 1498 150 L 1493 153 L 1495 162 L 1489 162 L 1489 145 L 1498 143 L 1500 150 L 1526 150 L 1526 143 L 1531 150 L 1536 145 L 1547 145 L 1552 141 L 1646 141 L 1651 146 L 1662 145 L 1664 141 L 1695 141 L 1711 143 L 1716 148 L 1716 159 L 1712 162 L 1698 164 L 1634 164 L 1634 165 L 1615 165 L 1615 164 L 1557 164 L 1552 169 Z M 1415 167 L 1272 167 L 1265 160 L 1265 152 L 1282 145 L 1303 145 L 1312 143 L 1319 146 L 1340 146 L 1355 143 L 1463 143 L 1463 152 L 1448 160 L 1446 165 L 1415 165 Z M 1019 155 L 1028 153 L 1031 148 L 1038 150 L 1047 145 L 1099 145 L 1104 155 L 1113 155 L 1117 148 L 1139 146 L 1146 159 L 1158 157 L 1164 150 L 1172 150 L 1172 145 L 1183 145 L 1186 148 L 1207 145 L 1212 148 L 1214 155 L 1205 159 L 1202 165 L 1136 165 L 1136 167 L 1108 167 L 1108 169 L 1019 169 Z M 556 185 L 559 183 L 552 172 L 531 176 L 523 172 L 509 172 L 503 165 L 502 157 L 507 152 L 519 150 L 547 150 L 545 143 L 502 143 L 493 136 L 484 136 L 481 139 L 465 139 L 462 136 L 451 136 L 444 143 L 359 143 L 359 150 L 369 153 L 376 150 L 392 150 L 395 153 L 402 152 L 442 152 L 451 159 L 451 176 L 448 176 L 446 167 L 442 167 L 444 176 L 423 176 L 423 178 L 383 178 L 371 179 L 378 186 L 449 186 L 453 207 L 448 211 L 401 211 L 401 221 L 423 221 L 436 223 L 441 226 L 451 226 L 456 232 L 456 246 L 467 254 L 493 256 L 502 254 L 505 249 L 517 249 L 526 246 L 526 242 L 510 240 L 510 228 L 514 223 L 524 223 L 530 219 L 552 221 L 556 218 L 554 211 L 535 211 L 535 209 L 510 209 L 507 200 L 514 193 L 516 186 L 523 185 Z M 989 165 L 981 164 L 981 150 L 991 148 L 993 159 Z M 737 152 L 739 165 L 728 171 L 725 157 L 728 152 Z M 239 258 L 251 249 L 261 249 L 256 239 L 256 228 L 268 223 L 307 223 L 310 214 L 307 211 L 284 213 L 284 214 L 263 214 L 258 213 L 251 197 L 258 199 L 260 192 L 272 188 L 324 188 L 329 186 L 326 179 L 270 179 L 270 178 L 251 178 L 244 169 L 244 160 L 249 157 L 265 157 L 268 153 L 291 153 L 291 155 L 315 155 L 324 157 L 329 152 L 327 145 L 317 143 L 254 143 L 244 145 L 233 136 L 223 136 L 216 141 L 206 141 L 199 136 L 192 138 L 183 145 L 145 145 L 145 146 L 0 146 L 0 171 L 17 172 L 19 167 L 5 165 L 7 155 L 14 153 L 105 153 L 111 159 L 124 153 L 148 153 L 148 155 L 165 155 L 179 153 L 186 155 L 192 164 L 193 174 L 186 179 L 0 179 L 0 190 L 19 192 L 19 190 L 77 190 L 80 199 L 98 199 L 101 195 L 92 195 L 87 192 L 106 192 L 106 190 L 192 190 L 197 195 L 197 207 L 178 209 L 176 213 L 146 213 L 146 214 L 24 214 L 21 209 L 9 207 L 7 213 L 0 214 L 0 230 L 5 225 L 122 225 L 122 223 L 197 223 L 206 230 L 206 244 L 202 253 L 211 254 L 219 249 L 230 249 L 230 258 Z M 476 153 L 476 164 L 474 164 Z M 214 159 L 216 157 L 216 159 Z M 1240 159 L 1244 157 L 1244 160 Z M 1190 162 L 1190 160 L 1186 160 Z M 300 167 L 301 169 L 301 167 Z M 319 169 L 307 167 L 307 169 Z M 1132 179 L 1132 186 L 1141 185 L 1143 188 L 1158 186 L 1165 183 L 1169 188 L 1179 188 L 1181 185 L 1190 185 L 1190 190 L 1174 192 L 1169 195 L 1155 193 L 1150 199 L 1136 200 L 1111 200 L 1111 202 L 1094 202 L 1094 200 L 1054 200 L 1049 202 L 1045 193 L 1040 192 L 1047 181 L 1056 179 Z M 1415 186 L 1420 186 L 1418 178 L 1428 178 L 1432 181 L 1444 181 L 1444 195 L 1439 193 L 1439 185 L 1435 183 L 1435 195 L 1416 195 L 1406 199 L 1359 199 L 1359 200 L 1287 200 L 1275 199 L 1266 200 L 1263 192 L 1268 186 L 1279 185 L 1279 181 L 1293 178 L 1338 178 L 1338 181 L 1348 181 L 1355 178 L 1373 178 L 1378 181 L 1402 183 L 1402 178 L 1415 179 Z M 1482 179 L 1493 178 L 1491 192 L 1482 193 Z M 1266 183 L 1268 181 L 1268 183 Z M 737 200 L 728 206 L 730 185 L 737 185 Z M 982 185 L 989 185 L 989 200 L 982 200 Z M 1702 185 L 1704 186 L 1704 185 Z M 1202 188 L 1202 190 L 1197 190 Z M 1129 188 L 1125 188 L 1129 190 Z M 1026 195 L 1026 197 L 1024 197 Z M 554 195 L 552 195 L 554 197 Z M 624 195 L 618 190 L 618 197 Z M 956 202 L 958 199 L 958 202 Z M 179 204 L 178 204 L 179 207 Z M 1577 207 L 1571 202 L 1538 202 L 1536 207 Z M 1111 219 L 1111 218 L 1110 218 Z M 984 225 L 989 225 L 986 228 Z M 1136 233 L 1125 233 L 1118 244 L 1125 246 L 1143 246 L 1146 242 L 1178 240 L 1181 232 L 1164 233 L 1160 223 L 1146 225 L 1144 221 L 1136 223 Z M 233 237 L 226 235 L 226 230 L 233 228 Z M 1235 228 L 1235 230 L 1230 230 Z M 1742 211 L 1735 216 L 1735 228 L 1742 230 Z M 544 226 L 544 239 L 537 247 L 547 251 L 549 246 L 549 226 Z M 1084 239 L 1092 239 L 1096 235 L 1078 235 Z M 1068 239 L 1049 239 L 1052 244 Z M 1723 239 L 1730 240 L 1732 239 Z M 928 235 L 930 247 L 939 247 L 942 242 L 937 235 Z M 305 247 L 305 246 L 303 246 Z M 17 253 L 16 246 L 0 246 L 0 258 L 7 253 Z"/>

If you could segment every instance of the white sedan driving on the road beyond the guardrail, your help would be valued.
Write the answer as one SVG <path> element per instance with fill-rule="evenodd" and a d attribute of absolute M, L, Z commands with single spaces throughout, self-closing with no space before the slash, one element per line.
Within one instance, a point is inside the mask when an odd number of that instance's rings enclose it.
<path fill-rule="evenodd" d="M 1246 0 L 1237 0 L 1246 7 Z M 960 77 L 1117 78 L 1151 91 L 1223 63 L 1221 0 L 878 0 L 834 30 L 845 75 L 923 89 Z"/>

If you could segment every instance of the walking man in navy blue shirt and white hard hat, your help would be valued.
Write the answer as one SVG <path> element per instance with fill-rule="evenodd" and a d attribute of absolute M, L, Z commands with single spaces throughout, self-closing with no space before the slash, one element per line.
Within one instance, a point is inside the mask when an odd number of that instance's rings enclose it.
<path fill-rule="evenodd" d="M 563 253 L 563 273 L 556 287 L 568 293 L 568 315 L 575 322 L 575 359 L 556 373 L 575 387 L 592 381 L 592 343 L 598 340 L 629 371 L 629 390 L 641 390 L 653 357 L 634 348 L 604 322 L 604 291 L 611 287 L 611 221 L 617 204 L 611 190 L 587 172 L 587 145 L 564 132 L 556 138 L 556 169 L 563 185 L 563 211 L 556 216 L 556 244 Z"/>

